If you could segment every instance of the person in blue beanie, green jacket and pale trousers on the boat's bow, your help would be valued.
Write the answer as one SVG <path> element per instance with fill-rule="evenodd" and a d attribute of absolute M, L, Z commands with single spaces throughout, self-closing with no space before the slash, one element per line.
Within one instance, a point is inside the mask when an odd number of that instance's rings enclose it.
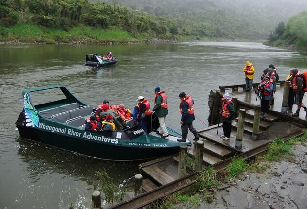
<path fill-rule="evenodd" d="M 165 117 L 168 114 L 168 105 L 167 97 L 164 92 L 165 91 L 161 91 L 160 87 L 156 87 L 154 89 L 156 96 L 154 98 L 153 111 L 155 111 L 155 115 L 158 117 L 160 123 L 160 129 L 157 131 L 157 134 L 162 135 L 162 138 L 170 136 L 165 126 Z"/>

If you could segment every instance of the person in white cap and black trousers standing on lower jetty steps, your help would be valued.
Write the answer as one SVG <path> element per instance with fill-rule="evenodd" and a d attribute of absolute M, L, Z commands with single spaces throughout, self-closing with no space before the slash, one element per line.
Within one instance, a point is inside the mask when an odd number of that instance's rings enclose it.
<path fill-rule="evenodd" d="M 230 139 L 230 134 L 231 134 L 231 122 L 232 122 L 232 117 L 235 114 L 235 109 L 232 103 L 232 98 L 230 97 L 229 93 L 225 93 L 222 97 L 222 111 L 221 111 L 221 116 L 223 118 L 223 134 L 220 135 L 221 138 L 224 140 L 229 140 Z"/>

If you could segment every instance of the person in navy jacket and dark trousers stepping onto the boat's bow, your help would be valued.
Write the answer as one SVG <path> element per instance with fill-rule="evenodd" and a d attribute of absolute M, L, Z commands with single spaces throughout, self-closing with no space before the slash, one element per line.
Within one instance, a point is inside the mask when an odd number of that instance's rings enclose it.
<path fill-rule="evenodd" d="M 199 136 L 196 132 L 196 129 L 193 126 L 193 121 L 195 120 L 194 115 L 194 101 L 192 100 L 190 95 L 186 95 L 185 92 L 181 92 L 179 94 L 179 98 L 181 103 L 179 104 L 179 110 L 181 113 L 181 133 L 182 138 L 177 139 L 179 142 L 186 142 L 188 129 L 194 134 L 195 138 L 194 141 L 199 140 Z"/>

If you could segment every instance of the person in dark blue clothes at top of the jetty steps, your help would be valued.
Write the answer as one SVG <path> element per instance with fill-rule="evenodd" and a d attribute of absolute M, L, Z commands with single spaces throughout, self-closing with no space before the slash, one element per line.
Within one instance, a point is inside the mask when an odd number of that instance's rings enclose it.
<path fill-rule="evenodd" d="M 261 115 L 265 118 L 268 117 L 269 112 L 269 101 L 272 98 L 273 83 L 270 80 L 270 76 L 266 75 L 264 82 L 259 86 L 261 91 Z"/>

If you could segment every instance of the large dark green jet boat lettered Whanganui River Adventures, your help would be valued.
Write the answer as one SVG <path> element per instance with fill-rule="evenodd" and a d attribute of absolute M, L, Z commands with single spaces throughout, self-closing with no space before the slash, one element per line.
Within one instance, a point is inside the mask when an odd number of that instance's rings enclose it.
<path fill-rule="evenodd" d="M 50 89 L 60 89 L 64 99 L 33 105 L 31 93 Z M 171 128 L 167 128 L 170 136 L 163 139 L 154 130 L 146 134 L 132 119 L 125 122 L 122 130 L 85 131 L 86 119 L 95 114 L 96 108 L 79 101 L 63 86 L 26 89 L 22 96 L 23 110 L 16 126 L 25 139 L 91 157 L 122 161 L 163 157 L 178 152 L 180 145 L 191 146 L 189 140 L 177 142 L 181 135 Z M 154 115 L 152 118 L 151 127 L 156 130 L 159 122 Z"/>

